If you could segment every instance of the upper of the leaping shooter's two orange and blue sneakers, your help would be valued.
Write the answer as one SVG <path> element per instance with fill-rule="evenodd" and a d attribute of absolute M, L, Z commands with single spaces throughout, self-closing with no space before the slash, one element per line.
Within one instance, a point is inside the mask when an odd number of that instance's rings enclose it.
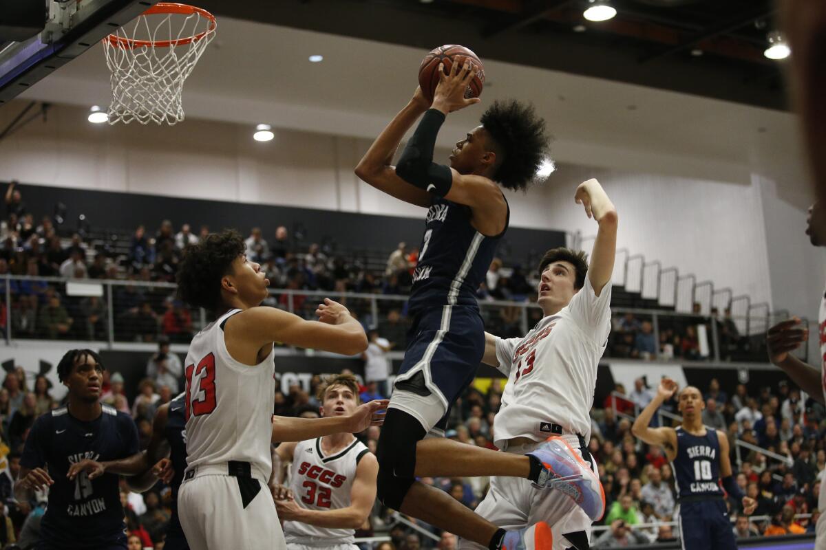
<path fill-rule="evenodd" d="M 593 521 L 605 513 L 605 491 L 591 467 L 563 438 L 554 435 L 534 449 L 529 456 L 542 463 L 537 485 L 561 491 Z"/>

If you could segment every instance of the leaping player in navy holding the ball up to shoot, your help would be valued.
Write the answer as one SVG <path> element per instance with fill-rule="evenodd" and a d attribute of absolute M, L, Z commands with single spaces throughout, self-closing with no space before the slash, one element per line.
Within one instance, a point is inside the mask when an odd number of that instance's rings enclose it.
<path fill-rule="evenodd" d="M 444 491 L 415 481 L 416 476 L 500 475 L 555 487 L 557 468 L 566 469 L 557 454 L 541 446 L 517 455 L 425 439 L 429 433 L 444 435 L 449 407 L 468 388 L 484 355 L 475 291 L 508 227 L 510 211 L 500 187 L 525 189 L 548 142 L 544 120 L 533 108 L 496 102 L 482 115 L 482 125 L 456 143 L 449 167 L 434 163 L 436 135 L 446 115 L 478 102 L 465 97 L 474 76 L 467 59 L 454 59 L 449 74 L 439 66 L 432 106 L 416 89 L 356 167 L 368 184 L 428 209 L 409 301 L 415 336 L 378 442 L 377 494 L 385 505 L 483 547 L 551 548 L 544 522 L 506 533 Z M 402 137 L 420 117 L 398 166 L 392 167 Z"/>

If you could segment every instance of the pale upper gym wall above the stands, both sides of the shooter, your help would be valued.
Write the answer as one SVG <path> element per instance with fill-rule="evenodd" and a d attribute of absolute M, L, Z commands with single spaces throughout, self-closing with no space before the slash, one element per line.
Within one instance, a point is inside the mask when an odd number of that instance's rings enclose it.
<path fill-rule="evenodd" d="M 0 126 L 16 112 L 10 107 L 0 110 Z M 272 142 L 256 143 L 246 125 L 187 120 L 159 132 L 136 125 L 90 125 L 85 115 L 83 109 L 55 106 L 47 122 L 33 122 L 0 141 L 0 179 L 365 214 L 421 215 L 420 209 L 354 176 L 353 167 L 369 144 L 365 139 L 276 129 Z M 446 151 L 439 154 L 446 156 Z M 795 293 L 806 286 L 805 294 L 811 294 L 814 283 L 800 283 L 774 265 L 770 269 L 770 259 L 772 264 L 778 260 L 800 265 L 799 256 L 778 255 L 791 253 L 784 243 L 799 237 L 792 225 L 805 219 L 800 210 L 805 199 L 799 198 L 794 205 L 770 200 L 776 190 L 769 190 L 762 179 L 752 178 L 746 170 L 730 172 L 729 181 L 708 181 L 562 165 L 527 194 L 508 194 L 513 225 L 593 235 L 596 223 L 573 201 L 577 185 L 593 176 L 600 179 L 619 210 L 618 247 L 662 261 L 663 267 L 693 272 L 698 281 L 713 280 L 716 288 L 731 287 L 735 295 L 750 294 L 753 302 L 779 299 L 782 305 L 776 307 L 783 308 L 808 303 L 803 294 Z M 805 195 L 805 190 L 800 194 Z M 767 232 L 771 233 L 768 248 Z M 586 249 L 590 247 L 587 242 Z M 810 273 L 807 267 L 798 275 L 823 279 L 821 273 Z"/>

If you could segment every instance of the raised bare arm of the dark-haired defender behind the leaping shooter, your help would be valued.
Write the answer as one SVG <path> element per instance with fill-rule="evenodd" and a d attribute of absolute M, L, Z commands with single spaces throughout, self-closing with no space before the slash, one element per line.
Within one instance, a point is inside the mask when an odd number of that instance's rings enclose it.
<path fill-rule="evenodd" d="M 596 231 L 594 249 L 591 251 L 591 265 L 588 266 L 588 279 L 594 293 L 599 296 L 614 273 L 619 218 L 614 203 L 605 194 L 600 182 L 595 179 L 582 182 L 577 187 L 574 200 L 577 204 L 582 204 L 588 218 L 596 219 L 600 226 Z"/>

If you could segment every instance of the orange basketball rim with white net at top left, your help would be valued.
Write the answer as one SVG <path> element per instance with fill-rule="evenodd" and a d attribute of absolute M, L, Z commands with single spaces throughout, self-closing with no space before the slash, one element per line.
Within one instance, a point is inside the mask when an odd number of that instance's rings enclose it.
<path fill-rule="evenodd" d="M 216 26 L 215 16 L 200 7 L 159 2 L 104 38 L 112 71 L 109 124 L 183 120 L 183 82 L 215 37 Z"/>

